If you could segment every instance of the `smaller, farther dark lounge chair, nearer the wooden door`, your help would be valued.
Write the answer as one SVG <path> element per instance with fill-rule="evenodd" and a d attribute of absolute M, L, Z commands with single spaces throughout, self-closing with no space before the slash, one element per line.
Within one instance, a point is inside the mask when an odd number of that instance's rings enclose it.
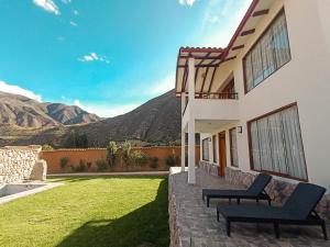
<path fill-rule="evenodd" d="M 241 199 L 250 199 L 250 200 L 267 200 L 271 205 L 271 198 L 266 193 L 265 188 L 272 180 L 272 176 L 260 173 L 250 186 L 248 190 L 216 190 L 216 189 L 204 189 L 202 190 L 202 201 L 205 198 L 207 200 L 207 206 L 210 205 L 210 199 L 237 199 L 238 204 L 240 204 Z"/>

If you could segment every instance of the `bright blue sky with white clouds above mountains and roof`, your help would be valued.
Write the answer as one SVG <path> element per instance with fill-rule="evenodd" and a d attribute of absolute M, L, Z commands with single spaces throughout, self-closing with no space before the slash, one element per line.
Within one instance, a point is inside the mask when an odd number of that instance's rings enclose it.
<path fill-rule="evenodd" d="M 0 0 L 0 90 L 125 113 L 175 85 L 180 46 L 226 47 L 251 0 Z"/>

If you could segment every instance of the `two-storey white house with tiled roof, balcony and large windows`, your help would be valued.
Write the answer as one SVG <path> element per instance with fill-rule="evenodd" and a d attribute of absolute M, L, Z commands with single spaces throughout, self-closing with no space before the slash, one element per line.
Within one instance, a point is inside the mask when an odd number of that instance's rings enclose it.
<path fill-rule="evenodd" d="M 253 0 L 226 48 L 182 47 L 182 169 L 265 171 L 330 189 L 330 1 Z M 188 133 L 188 143 L 185 142 Z"/>

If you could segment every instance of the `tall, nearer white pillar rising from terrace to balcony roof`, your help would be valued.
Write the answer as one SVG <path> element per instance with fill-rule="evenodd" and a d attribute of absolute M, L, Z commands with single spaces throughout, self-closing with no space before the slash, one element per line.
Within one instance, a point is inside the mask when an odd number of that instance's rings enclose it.
<path fill-rule="evenodd" d="M 189 97 L 189 121 L 188 121 L 188 183 L 196 183 L 195 175 L 195 59 L 188 60 L 188 97 Z"/>

